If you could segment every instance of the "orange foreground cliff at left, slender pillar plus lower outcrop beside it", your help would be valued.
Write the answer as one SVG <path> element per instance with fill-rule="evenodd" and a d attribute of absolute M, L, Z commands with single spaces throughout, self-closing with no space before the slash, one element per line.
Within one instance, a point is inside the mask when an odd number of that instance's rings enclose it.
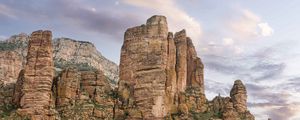
<path fill-rule="evenodd" d="M 70 65 L 55 77 L 50 31 L 33 32 L 16 83 L 0 83 L 3 119 L 113 119 L 114 93 L 103 71 Z"/>

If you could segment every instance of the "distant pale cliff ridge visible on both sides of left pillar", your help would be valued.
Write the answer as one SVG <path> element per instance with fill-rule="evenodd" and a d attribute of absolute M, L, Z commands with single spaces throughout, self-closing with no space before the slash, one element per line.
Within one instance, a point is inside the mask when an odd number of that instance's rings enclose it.
<path fill-rule="evenodd" d="M 29 36 L 22 33 L 0 42 L 0 81 L 4 84 L 15 83 L 19 72 L 25 67 L 28 41 Z M 104 71 L 113 87 L 119 80 L 118 65 L 102 56 L 90 42 L 56 38 L 53 40 L 53 59 L 58 72 L 68 66 L 80 69 L 92 67 Z"/>

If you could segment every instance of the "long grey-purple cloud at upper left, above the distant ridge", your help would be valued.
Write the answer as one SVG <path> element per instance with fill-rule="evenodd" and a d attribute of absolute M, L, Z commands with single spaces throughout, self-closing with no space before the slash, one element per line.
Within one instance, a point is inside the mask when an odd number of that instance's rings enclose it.
<path fill-rule="evenodd" d="M 96 2 L 96 1 L 94 1 Z M 28 4 L 30 3 L 30 4 Z M 70 4 L 72 3 L 72 4 Z M 92 2 L 93 3 L 93 2 Z M 0 4 L 0 17 L 6 15 L 35 25 L 49 26 L 64 31 L 102 34 L 122 41 L 126 28 L 141 23 L 139 16 L 128 10 L 97 7 L 81 0 L 4 1 Z M 114 5 L 115 3 L 111 3 Z M 55 9 L 54 9 L 55 8 Z M 29 24 L 28 23 L 28 24 Z M 47 25 L 44 25 L 46 24 Z"/>

